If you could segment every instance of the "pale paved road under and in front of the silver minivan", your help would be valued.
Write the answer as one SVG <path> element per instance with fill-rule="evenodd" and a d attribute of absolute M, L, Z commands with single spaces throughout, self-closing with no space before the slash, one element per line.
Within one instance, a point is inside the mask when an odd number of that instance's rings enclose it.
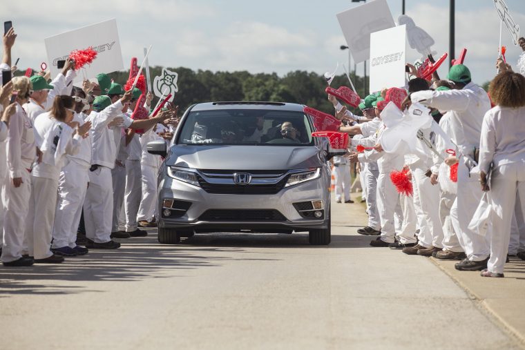
<path fill-rule="evenodd" d="M 360 204 L 307 235 L 149 237 L 0 267 L 0 349 L 521 349 L 428 258 L 368 246 Z"/>

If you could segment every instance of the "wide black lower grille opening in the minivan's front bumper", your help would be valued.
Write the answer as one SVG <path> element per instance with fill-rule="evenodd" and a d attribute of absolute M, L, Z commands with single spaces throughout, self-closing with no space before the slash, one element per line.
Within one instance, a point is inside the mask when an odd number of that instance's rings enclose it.
<path fill-rule="evenodd" d="M 202 221 L 286 221 L 274 209 L 209 209 L 200 215 Z"/>

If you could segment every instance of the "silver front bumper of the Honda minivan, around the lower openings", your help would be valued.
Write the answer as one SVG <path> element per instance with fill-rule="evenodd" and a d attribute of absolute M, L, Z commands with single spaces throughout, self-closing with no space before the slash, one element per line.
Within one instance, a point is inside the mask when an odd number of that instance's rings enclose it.
<path fill-rule="evenodd" d="M 192 230 L 196 232 L 213 231 L 258 231 L 288 232 L 327 229 L 330 213 L 330 184 L 324 173 L 318 179 L 295 186 L 285 187 L 274 195 L 231 195 L 211 194 L 200 186 L 193 186 L 178 179 L 164 176 L 159 183 L 159 226 L 169 229 Z M 191 206 L 180 217 L 164 217 L 162 202 L 164 199 L 191 202 Z M 305 218 L 294 208 L 294 203 L 321 200 L 323 217 L 321 219 Z M 268 210 L 274 209 L 285 217 L 285 220 L 250 220 L 250 221 L 207 221 L 200 220 L 201 215 L 212 209 L 229 210 Z"/>

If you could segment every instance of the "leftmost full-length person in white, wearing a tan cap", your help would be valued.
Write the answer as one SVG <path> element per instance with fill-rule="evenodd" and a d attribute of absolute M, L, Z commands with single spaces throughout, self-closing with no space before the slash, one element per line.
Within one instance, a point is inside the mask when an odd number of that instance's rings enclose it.
<path fill-rule="evenodd" d="M 37 148 L 31 121 L 22 106 L 29 100 L 32 84 L 28 77 L 15 77 L 12 87 L 12 93 L 17 97 L 12 105 L 15 106 L 15 113 L 10 117 L 6 144 L 9 174 L 2 191 L 3 206 L 6 208 L 2 262 L 4 266 L 30 266 L 33 260 L 22 257 L 23 227 L 31 195 L 31 165 L 37 157 Z"/>

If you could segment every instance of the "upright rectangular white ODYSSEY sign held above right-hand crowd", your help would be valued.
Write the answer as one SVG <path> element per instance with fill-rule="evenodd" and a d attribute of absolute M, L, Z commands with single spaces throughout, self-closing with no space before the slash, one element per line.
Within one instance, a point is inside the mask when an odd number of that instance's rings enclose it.
<path fill-rule="evenodd" d="M 405 86 L 406 26 L 370 35 L 370 92 Z"/>

